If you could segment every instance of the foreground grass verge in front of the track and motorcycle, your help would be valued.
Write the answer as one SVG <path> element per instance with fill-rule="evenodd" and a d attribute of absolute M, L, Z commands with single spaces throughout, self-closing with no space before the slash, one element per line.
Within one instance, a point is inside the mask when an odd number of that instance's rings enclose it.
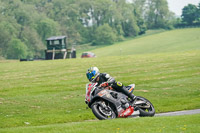
<path fill-rule="evenodd" d="M 197 133 L 200 115 L 128 118 L 0 129 L 1 133 Z"/>

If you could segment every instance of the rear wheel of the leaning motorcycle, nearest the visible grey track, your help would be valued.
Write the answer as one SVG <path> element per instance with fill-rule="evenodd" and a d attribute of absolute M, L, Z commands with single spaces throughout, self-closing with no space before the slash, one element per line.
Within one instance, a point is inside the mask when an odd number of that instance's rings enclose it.
<path fill-rule="evenodd" d="M 135 104 L 136 104 L 136 107 L 140 111 L 140 116 L 154 116 L 155 115 L 154 106 L 148 99 L 137 96 Z"/>

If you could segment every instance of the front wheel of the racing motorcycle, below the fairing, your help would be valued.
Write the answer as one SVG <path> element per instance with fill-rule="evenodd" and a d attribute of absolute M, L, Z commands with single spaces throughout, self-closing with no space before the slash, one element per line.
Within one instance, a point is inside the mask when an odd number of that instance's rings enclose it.
<path fill-rule="evenodd" d="M 116 114 L 113 107 L 105 101 L 96 101 L 91 106 L 93 114 L 99 120 L 114 119 Z"/>

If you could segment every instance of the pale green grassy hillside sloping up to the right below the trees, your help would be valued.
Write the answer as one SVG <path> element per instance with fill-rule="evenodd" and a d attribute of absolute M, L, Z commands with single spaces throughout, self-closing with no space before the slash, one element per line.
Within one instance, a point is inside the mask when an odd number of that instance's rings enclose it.
<path fill-rule="evenodd" d="M 98 57 L 200 49 L 200 28 L 176 29 L 91 50 Z"/>

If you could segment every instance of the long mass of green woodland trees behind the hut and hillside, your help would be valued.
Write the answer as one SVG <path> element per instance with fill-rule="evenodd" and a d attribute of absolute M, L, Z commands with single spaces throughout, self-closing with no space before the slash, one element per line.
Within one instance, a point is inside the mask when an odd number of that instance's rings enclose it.
<path fill-rule="evenodd" d="M 0 58 L 43 57 L 50 36 L 112 44 L 175 23 L 166 0 L 0 0 Z"/>

